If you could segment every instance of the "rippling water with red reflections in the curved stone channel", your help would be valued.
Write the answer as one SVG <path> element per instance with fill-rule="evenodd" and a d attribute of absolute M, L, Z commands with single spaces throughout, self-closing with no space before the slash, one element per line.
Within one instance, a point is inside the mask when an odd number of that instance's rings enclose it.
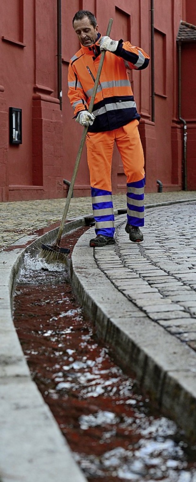
<path fill-rule="evenodd" d="M 196 482 L 196 450 L 98 341 L 65 267 L 48 271 L 26 257 L 14 324 L 32 378 L 89 481 Z"/>

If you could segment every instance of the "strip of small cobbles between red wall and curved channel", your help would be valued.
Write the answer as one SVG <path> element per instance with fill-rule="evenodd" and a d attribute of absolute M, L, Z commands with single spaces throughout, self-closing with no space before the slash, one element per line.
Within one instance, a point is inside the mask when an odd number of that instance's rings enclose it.
<path fill-rule="evenodd" d="M 151 193 L 145 203 L 177 202 L 196 199 L 195 191 Z M 63 214 L 65 199 L 17 201 L 0 203 L 0 250 L 23 235 L 58 222 Z M 126 195 L 113 196 L 114 209 L 126 207 Z M 72 198 L 68 219 L 80 214 L 92 214 L 91 198 Z"/>

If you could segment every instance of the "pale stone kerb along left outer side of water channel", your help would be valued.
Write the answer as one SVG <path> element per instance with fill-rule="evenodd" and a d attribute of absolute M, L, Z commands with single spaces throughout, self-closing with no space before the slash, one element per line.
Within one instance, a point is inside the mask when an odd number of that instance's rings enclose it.
<path fill-rule="evenodd" d="M 84 217 L 76 218 L 65 225 L 64 233 L 84 224 Z M 57 231 L 35 236 L 26 248 L 14 249 L 13 244 L 12 251 L 0 253 L 0 482 L 87 481 L 31 379 L 12 319 L 14 287 L 24 255 L 37 252 L 42 242 L 52 243 Z"/>

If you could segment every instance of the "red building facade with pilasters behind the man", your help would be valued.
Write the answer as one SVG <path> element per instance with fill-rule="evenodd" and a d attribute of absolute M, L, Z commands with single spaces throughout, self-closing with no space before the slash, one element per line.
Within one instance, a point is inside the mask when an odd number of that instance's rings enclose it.
<path fill-rule="evenodd" d="M 67 195 L 82 127 L 67 97 L 70 58 L 80 48 L 77 10 L 105 34 L 151 56 L 131 71 L 145 155 L 146 191 L 196 189 L 195 0 L 9 0 L 0 3 L 0 201 Z M 183 30 L 183 31 L 182 31 Z M 112 191 L 126 177 L 114 148 Z M 84 147 L 74 196 L 90 195 Z"/>

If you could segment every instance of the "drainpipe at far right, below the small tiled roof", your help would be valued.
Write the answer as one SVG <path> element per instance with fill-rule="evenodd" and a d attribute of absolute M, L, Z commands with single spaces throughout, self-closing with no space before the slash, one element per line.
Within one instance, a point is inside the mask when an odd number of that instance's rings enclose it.
<path fill-rule="evenodd" d="M 187 159 L 186 159 L 186 145 L 187 145 L 187 125 L 186 121 L 181 117 L 181 42 L 178 42 L 178 117 L 183 123 L 183 190 L 187 191 Z"/>

